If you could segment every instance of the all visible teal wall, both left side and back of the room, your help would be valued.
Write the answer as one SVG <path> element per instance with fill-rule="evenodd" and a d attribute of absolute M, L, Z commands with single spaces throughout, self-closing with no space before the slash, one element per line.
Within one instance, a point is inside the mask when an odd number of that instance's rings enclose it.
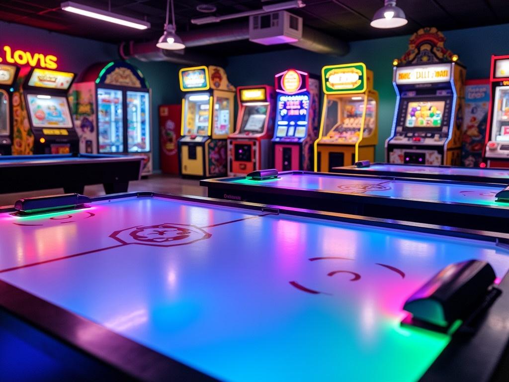
<path fill-rule="evenodd" d="M 467 78 L 489 76 L 491 54 L 509 54 L 506 36 L 509 24 L 444 32 L 445 46 L 459 55 L 467 66 Z M 410 36 L 356 41 L 350 44 L 347 56 L 334 58 L 302 49 L 279 52 L 247 54 L 230 57 L 225 68 L 230 82 L 235 86 L 273 84 L 274 74 L 295 67 L 320 73 L 322 66 L 364 62 L 374 72 L 375 89 L 380 94 L 379 145 L 377 160 L 383 160 L 383 142 L 387 138 L 394 114 L 395 94 L 392 88 L 392 60 L 407 49 Z M 0 21 L 0 46 L 9 44 L 16 49 L 54 54 L 59 57 L 59 69 L 80 72 L 91 64 L 118 59 L 114 44 L 87 40 L 30 26 Z M 159 169 L 158 105 L 180 103 L 178 85 L 180 66 L 168 62 L 141 62 L 130 60 L 148 79 L 152 88 L 152 131 L 154 169 Z M 204 63 L 206 65 L 207 63 Z"/>

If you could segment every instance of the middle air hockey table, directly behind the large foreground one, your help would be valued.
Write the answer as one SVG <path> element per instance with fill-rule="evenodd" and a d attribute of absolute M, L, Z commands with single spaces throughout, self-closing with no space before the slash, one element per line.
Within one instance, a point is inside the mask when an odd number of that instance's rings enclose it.
<path fill-rule="evenodd" d="M 509 188 L 434 179 L 262 170 L 203 179 L 210 198 L 507 232 Z M 268 175 L 267 175 L 268 174 Z"/>

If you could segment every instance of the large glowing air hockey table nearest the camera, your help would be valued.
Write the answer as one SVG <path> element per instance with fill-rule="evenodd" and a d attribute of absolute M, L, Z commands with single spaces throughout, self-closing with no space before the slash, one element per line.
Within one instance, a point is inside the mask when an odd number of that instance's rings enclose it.
<path fill-rule="evenodd" d="M 0 210 L 13 380 L 506 380 L 508 234 L 152 193 L 16 207 Z M 492 269 L 483 287 L 456 288 L 466 263 Z M 445 312 L 466 290 L 492 297 L 447 331 L 404 324 L 409 301 Z"/>

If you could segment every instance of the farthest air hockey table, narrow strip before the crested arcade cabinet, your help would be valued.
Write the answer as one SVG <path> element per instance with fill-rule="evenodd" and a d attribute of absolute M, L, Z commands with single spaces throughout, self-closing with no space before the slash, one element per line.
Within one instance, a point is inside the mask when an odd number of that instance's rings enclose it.
<path fill-rule="evenodd" d="M 473 168 L 458 166 L 420 166 L 397 163 L 370 163 L 362 160 L 353 166 L 334 167 L 333 173 L 397 176 L 400 178 L 427 178 L 439 180 L 456 180 L 478 183 L 509 184 L 509 169 Z"/>

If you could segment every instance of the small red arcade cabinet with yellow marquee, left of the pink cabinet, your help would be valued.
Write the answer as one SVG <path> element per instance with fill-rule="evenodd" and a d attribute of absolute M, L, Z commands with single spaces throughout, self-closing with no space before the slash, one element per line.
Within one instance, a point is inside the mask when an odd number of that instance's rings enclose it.
<path fill-rule="evenodd" d="M 237 129 L 228 137 L 228 174 L 244 175 L 268 169 L 272 163 L 270 140 L 274 133 L 274 88 L 237 88 Z"/>

